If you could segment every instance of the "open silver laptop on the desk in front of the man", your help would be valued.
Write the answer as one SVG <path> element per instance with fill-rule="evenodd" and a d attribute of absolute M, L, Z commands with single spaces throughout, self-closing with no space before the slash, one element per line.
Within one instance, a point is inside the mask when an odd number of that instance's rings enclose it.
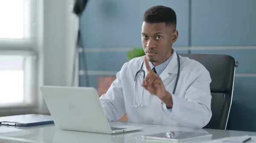
<path fill-rule="evenodd" d="M 104 134 L 143 129 L 140 126 L 111 126 L 93 87 L 41 86 L 40 90 L 58 129 Z"/>

